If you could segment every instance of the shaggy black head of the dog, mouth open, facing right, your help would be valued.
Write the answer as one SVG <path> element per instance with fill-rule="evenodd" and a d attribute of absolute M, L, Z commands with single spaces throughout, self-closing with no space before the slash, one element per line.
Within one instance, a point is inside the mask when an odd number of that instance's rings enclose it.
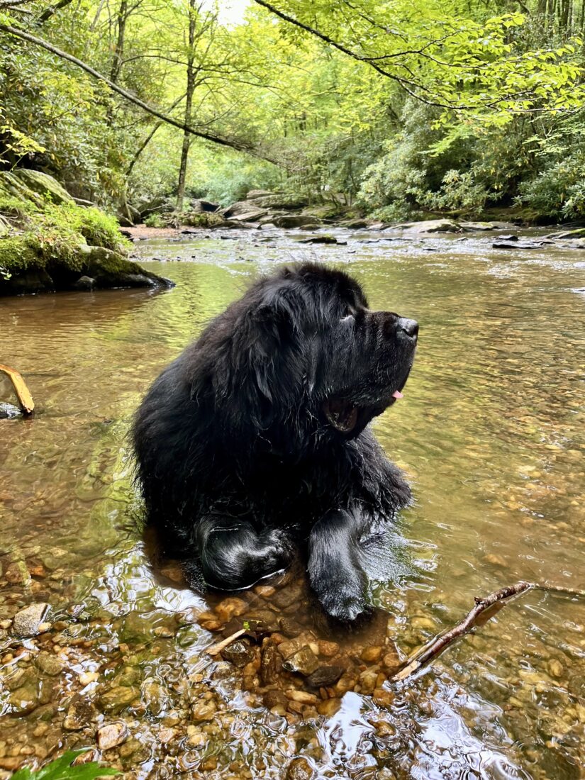
<path fill-rule="evenodd" d="M 229 388 L 216 395 L 282 438 L 290 428 L 359 434 L 401 397 L 417 346 L 415 321 L 371 311 L 353 278 L 317 264 L 261 279 L 225 317 Z"/>

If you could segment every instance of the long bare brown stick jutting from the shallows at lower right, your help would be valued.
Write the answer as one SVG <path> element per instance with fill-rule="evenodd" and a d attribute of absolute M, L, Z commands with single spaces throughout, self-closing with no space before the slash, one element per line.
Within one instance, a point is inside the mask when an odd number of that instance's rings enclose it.
<path fill-rule="evenodd" d="M 437 658 L 438 655 L 445 650 L 445 647 L 449 647 L 452 642 L 469 633 L 475 626 L 483 626 L 488 622 L 496 612 L 504 607 L 509 598 L 524 593 L 526 590 L 545 590 L 548 593 L 566 594 L 568 596 L 585 597 L 585 590 L 572 590 L 571 588 L 562 587 L 559 585 L 540 585 L 538 583 L 528 583 L 524 580 L 520 580 L 515 585 L 508 585 L 502 587 L 499 590 L 495 590 L 494 593 L 489 594 L 484 598 L 475 598 L 475 606 L 470 612 L 463 618 L 463 620 L 449 631 L 441 633 L 435 636 L 433 640 L 428 642 L 413 653 L 410 658 L 406 659 L 406 663 L 399 669 L 398 672 L 393 675 L 390 680 L 393 683 L 399 683 L 400 681 L 410 677 L 415 672 L 418 672 L 425 664 Z"/>

